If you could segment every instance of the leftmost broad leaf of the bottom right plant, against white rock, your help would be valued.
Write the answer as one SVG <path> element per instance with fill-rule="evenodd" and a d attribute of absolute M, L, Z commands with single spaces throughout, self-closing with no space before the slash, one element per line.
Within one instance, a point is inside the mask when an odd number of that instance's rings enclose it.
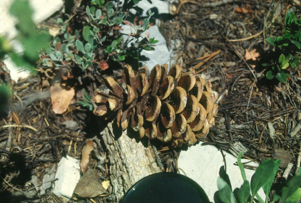
<path fill-rule="evenodd" d="M 218 196 L 224 203 L 235 203 L 235 196 L 230 189 L 230 186 L 220 177 L 217 179 Z"/>

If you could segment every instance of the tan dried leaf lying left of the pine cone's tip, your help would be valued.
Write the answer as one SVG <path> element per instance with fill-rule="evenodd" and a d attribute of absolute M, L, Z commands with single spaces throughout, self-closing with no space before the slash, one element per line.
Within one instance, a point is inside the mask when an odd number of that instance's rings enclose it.
<path fill-rule="evenodd" d="M 59 83 L 52 85 L 50 87 L 50 98 L 53 112 L 55 114 L 64 113 L 67 110 L 74 95 L 75 92 L 73 87 L 66 89 Z"/>

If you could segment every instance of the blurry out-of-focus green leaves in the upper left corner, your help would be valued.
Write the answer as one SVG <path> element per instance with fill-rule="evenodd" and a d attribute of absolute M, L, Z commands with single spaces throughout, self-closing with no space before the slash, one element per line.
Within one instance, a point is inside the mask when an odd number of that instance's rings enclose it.
<path fill-rule="evenodd" d="M 16 39 L 23 45 L 24 52 L 16 53 L 9 45 L 9 40 L 0 36 L 0 59 L 8 54 L 17 66 L 33 71 L 36 61 L 39 60 L 40 50 L 48 47 L 50 36 L 35 28 L 33 10 L 27 0 L 14 0 L 9 12 L 18 20 Z"/>

